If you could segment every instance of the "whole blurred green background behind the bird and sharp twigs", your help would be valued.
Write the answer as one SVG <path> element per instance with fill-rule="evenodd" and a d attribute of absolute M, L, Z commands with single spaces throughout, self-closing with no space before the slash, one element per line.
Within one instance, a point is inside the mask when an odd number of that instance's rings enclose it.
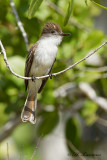
<path fill-rule="evenodd" d="M 85 0 L 74 0 L 66 26 L 63 24 L 69 0 L 43 1 L 31 19 L 28 19 L 30 1 L 14 0 L 14 3 L 28 35 L 29 47 L 39 39 L 48 21 L 58 23 L 64 32 L 72 34 L 59 46 L 53 72 L 82 59 L 107 39 L 107 11 L 90 1 L 86 5 Z M 0 0 L 0 39 L 10 66 L 24 75 L 26 45 L 9 0 Z M 7 159 L 8 143 L 10 160 L 31 157 L 33 160 L 55 160 L 55 156 L 58 160 L 81 159 L 72 156 L 77 152 L 73 146 L 81 153 L 100 154 L 86 159 L 106 160 L 106 65 L 107 46 L 74 69 L 49 79 L 38 95 L 37 123 L 32 125 L 20 121 L 27 95 L 24 80 L 9 72 L 0 55 L 0 159 Z"/>

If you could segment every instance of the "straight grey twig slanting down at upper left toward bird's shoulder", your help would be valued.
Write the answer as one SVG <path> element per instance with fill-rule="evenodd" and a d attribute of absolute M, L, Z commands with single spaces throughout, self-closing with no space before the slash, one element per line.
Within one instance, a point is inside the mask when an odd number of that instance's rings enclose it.
<path fill-rule="evenodd" d="M 24 38 L 24 41 L 25 41 L 25 44 L 26 44 L 26 49 L 27 51 L 29 50 L 29 45 L 28 45 L 28 37 L 27 37 L 27 33 L 25 32 L 25 29 L 23 27 L 23 24 L 22 22 L 20 21 L 20 18 L 19 18 L 19 15 L 17 13 L 17 10 L 16 10 L 16 7 L 15 7 L 15 4 L 13 2 L 13 0 L 9 0 L 10 1 L 10 5 L 11 5 L 11 8 L 13 10 L 13 14 L 16 18 L 16 21 L 17 21 L 17 25 L 20 29 L 20 31 L 22 32 L 22 35 L 23 35 L 23 38 Z"/>

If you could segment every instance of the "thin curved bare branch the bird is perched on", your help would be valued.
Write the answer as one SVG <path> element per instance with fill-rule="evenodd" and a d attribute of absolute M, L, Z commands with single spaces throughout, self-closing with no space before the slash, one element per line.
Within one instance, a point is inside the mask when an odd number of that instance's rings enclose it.
<path fill-rule="evenodd" d="M 79 63 L 81 63 L 82 61 L 84 61 L 84 60 L 86 60 L 87 58 L 89 58 L 90 56 L 92 56 L 94 53 L 96 53 L 100 48 L 102 48 L 102 47 L 105 46 L 106 44 L 107 44 L 107 41 L 104 42 L 102 45 L 100 45 L 98 48 L 96 48 L 94 51 L 90 52 L 87 56 L 85 56 L 84 58 L 82 58 L 82 59 L 79 60 L 78 62 L 74 63 L 73 65 L 70 65 L 68 68 L 66 68 L 66 69 L 64 69 L 64 70 L 62 70 L 62 71 L 60 71 L 60 72 L 57 72 L 57 73 L 52 73 L 52 76 L 57 76 L 57 75 L 59 75 L 59 74 L 62 74 L 62 73 L 64 73 L 64 72 L 72 69 L 73 67 L 75 67 L 76 65 L 78 65 Z M 32 77 L 23 77 L 23 76 L 20 76 L 20 75 L 18 75 L 17 73 L 15 73 L 15 72 L 11 69 L 11 67 L 9 66 L 9 63 L 8 63 L 8 61 L 7 61 L 6 51 L 5 51 L 5 49 L 4 49 L 3 44 L 2 44 L 1 41 L 0 41 L 0 46 L 1 46 L 2 54 L 3 54 L 3 56 L 4 56 L 4 61 L 5 61 L 5 63 L 6 63 L 7 68 L 10 70 L 10 72 L 11 72 L 12 74 L 14 74 L 14 75 L 15 75 L 16 77 L 18 77 L 18 78 L 27 79 L 27 80 L 32 79 Z M 34 79 L 44 79 L 44 78 L 47 78 L 47 77 L 50 77 L 50 75 L 45 75 L 45 76 L 40 76 L 40 77 L 34 77 Z"/>

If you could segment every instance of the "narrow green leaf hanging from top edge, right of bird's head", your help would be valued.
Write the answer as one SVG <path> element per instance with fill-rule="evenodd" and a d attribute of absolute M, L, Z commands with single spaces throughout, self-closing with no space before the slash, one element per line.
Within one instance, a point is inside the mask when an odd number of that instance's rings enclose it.
<path fill-rule="evenodd" d="M 68 20 L 69 20 L 69 18 L 70 18 L 70 15 L 71 15 L 71 13 L 72 13 L 73 2 L 74 2 L 74 0 L 71 0 L 71 1 L 69 2 L 68 10 L 67 10 L 67 13 L 66 13 L 66 16 L 65 16 L 65 19 L 64 19 L 64 26 L 67 25 Z"/>

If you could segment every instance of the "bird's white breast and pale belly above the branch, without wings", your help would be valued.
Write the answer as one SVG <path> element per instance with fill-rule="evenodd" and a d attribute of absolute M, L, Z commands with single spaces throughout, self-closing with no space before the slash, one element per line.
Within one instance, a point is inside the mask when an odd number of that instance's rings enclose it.
<path fill-rule="evenodd" d="M 46 37 L 41 38 L 37 43 L 38 47 L 34 56 L 31 74 L 35 76 L 42 76 L 49 72 L 52 64 L 55 61 L 58 45 L 61 43 L 61 38 Z"/>

